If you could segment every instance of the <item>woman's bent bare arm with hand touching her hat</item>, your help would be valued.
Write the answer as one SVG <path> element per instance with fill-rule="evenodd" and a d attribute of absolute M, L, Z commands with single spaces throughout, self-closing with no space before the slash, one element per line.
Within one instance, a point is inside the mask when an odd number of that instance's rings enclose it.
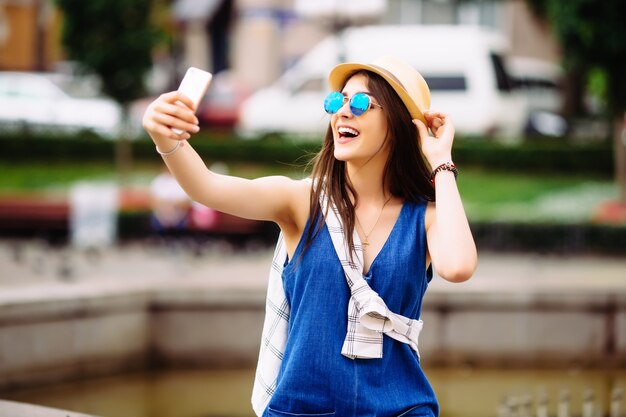
<path fill-rule="evenodd" d="M 422 152 L 433 168 L 452 162 L 454 126 L 442 113 L 424 114 L 434 136 L 414 120 Z M 463 209 L 454 173 L 442 170 L 435 176 L 435 203 L 426 211 L 428 252 L 437 274 L 452 282 L 468 280 L 476 270 L 478 255 Z"/>

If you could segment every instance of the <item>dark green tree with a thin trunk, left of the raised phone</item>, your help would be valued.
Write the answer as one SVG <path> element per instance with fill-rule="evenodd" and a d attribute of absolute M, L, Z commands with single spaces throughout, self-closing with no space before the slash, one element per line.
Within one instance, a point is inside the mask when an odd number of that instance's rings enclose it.
<path fill-rule="evenodd" d="M 158 1 L 158 0 L 157 0 Z M 153 0 L 56 0 L 63 14 L 61 41 L 68 58 L 97 74 L 102 89 L 123 106 L 129 125 L 129 103 L 145 94 L 144 77 L 151 52 L 161 39 L 153 24 Z M 128 130 L 116 145 L 122 179 L 131 165 Z"/>

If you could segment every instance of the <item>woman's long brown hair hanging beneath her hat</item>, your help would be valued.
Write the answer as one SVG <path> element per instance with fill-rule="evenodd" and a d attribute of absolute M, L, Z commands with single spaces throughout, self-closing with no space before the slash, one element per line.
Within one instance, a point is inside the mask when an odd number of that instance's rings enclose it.
<path fill-rule="evenodd" d="M 389 146 L 389 159 L 383 172 L 383 189 L 406 201 L 434 201 L 435 192 L 430 182 L 430 168 L 422 155 L 420 141 L 417 139 L 417 127 L 413 124 L 409 111 L 384 78 L 373 72 L 360 70 L 351 74 L 348 79 L 357 74 L 366 77 L 370 93 L 382 106 L 387 119 L 388 130 L 385 142 Z M 326 130 L 322 149 L 313 159 L 311 177 L 313 190 L 309 209 L 310 227 L 306 236 L 305 251 L 323 225 L 323 221 L 319 221 L 317 227 L 313 227 L 316 221 L 321 220 L 319 198 L 322 192 L 330 199 L 330 203 L 337 207 L 344 226 L 346 243 L 353 248 L 352 236 L 358 195 L 346 174 L 345 162 L 335 158 L 330 124 Z"/>

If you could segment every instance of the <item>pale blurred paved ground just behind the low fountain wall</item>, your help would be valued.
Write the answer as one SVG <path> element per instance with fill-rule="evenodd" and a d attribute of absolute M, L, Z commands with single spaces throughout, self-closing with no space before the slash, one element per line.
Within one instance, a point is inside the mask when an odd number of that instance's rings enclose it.
<path fill-rule="evenodd" d="M 68 286 L 117 287 L 205 281 L 224 289 L 263 290 L 272 249 L 224 242 L 132 243 L 99 251 L 50 247 L 39 241 L 0 241 L 0 289 L 9 295 Z M 480 253 L 463 284 L 435 279 L 429 291 L 463 294 L 619 294 L 626 300 L 626 256 L 540 256 Z M 93 288 L 94 290 L 96 288 Z"/>

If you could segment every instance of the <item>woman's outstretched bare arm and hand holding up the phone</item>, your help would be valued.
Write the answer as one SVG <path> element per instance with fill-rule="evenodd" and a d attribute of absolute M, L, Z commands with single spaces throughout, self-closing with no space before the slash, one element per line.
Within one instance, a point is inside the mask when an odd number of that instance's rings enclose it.
<path fill-rule="evenodd" d="M 187 132 L 199 131 L 192 108 L 189 98 L 174 91 L 153 101 L 143 118 L 144 128 L 189 197 L 239 217 L 275 221 L 281 228 L 301 223 L 296 221 L 302 199 L 301 181 L 279 176 L 248 180 L 220 175 L 207 168 L 187 143 L 191 137 Z M 172 128 L 183 133 L 176 134 Z"/>

